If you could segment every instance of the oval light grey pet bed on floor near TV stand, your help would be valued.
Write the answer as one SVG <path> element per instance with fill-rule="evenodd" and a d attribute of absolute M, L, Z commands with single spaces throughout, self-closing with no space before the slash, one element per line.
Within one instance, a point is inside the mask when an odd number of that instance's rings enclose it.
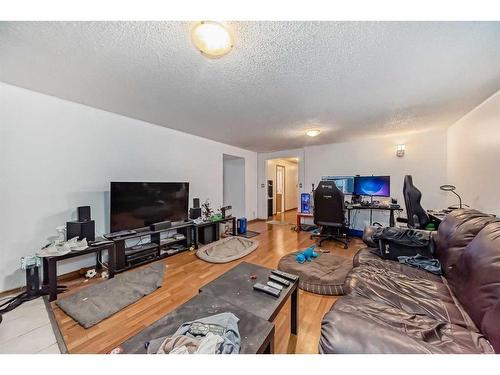
<path fill-rule="evenodd" d="M 226 237 L 200 248 L 198 258 L 210 263 L 227 263 L 243 258 L 257 249 L 259 241 L 244 237 Z"/>

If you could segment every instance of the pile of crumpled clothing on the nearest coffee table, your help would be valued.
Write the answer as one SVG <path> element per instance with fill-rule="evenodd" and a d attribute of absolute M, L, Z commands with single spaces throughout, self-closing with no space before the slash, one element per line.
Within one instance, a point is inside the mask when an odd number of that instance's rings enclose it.
<path fill-rule="evenodd" d="M 238 354 L 238 321 L 222 313 L 183 323 L 172 336 L 149 341 L 148 354 Z"/>

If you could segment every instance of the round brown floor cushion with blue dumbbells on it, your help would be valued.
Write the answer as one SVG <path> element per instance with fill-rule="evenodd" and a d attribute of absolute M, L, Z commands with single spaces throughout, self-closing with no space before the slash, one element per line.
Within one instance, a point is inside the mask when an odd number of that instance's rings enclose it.
<path fill-rule="evenodd" d="M 281 258 L 278 269 L 299 276 L 299 288 L 311 293 L 340 296 L 344 281 L 352 269 L 352 260 L 332 253 L 318 253 L 318 257 L 302 264 L 295 260 L 298 252 Z"/>

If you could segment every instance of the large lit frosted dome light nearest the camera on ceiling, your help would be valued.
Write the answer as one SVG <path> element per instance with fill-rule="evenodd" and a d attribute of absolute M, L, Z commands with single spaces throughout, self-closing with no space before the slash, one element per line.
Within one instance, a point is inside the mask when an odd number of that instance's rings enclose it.
<path fill-rule="evenodd" d="M 191 32 L 196 48 L 205 56 L 217 58 L 229 53 L 233 39 L 226 26 L 214 21 L 202 21 Z"/>

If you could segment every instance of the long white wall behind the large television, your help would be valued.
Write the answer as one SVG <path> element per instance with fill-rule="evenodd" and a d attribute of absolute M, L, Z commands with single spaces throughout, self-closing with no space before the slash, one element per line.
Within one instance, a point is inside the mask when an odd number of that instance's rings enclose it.
<path fill-rule="evenodd" d="M 223 154 L 245 159 L 246 217 L 257 211 L 257 154 L 0 83 L 0 291 L 24 285 L 33 254 L 90 205 L 109 230 L 110 181 L 188 181 L 190 200 L 222 204 Z M 60 273 L 90 265 L 63 264 Z"/>

